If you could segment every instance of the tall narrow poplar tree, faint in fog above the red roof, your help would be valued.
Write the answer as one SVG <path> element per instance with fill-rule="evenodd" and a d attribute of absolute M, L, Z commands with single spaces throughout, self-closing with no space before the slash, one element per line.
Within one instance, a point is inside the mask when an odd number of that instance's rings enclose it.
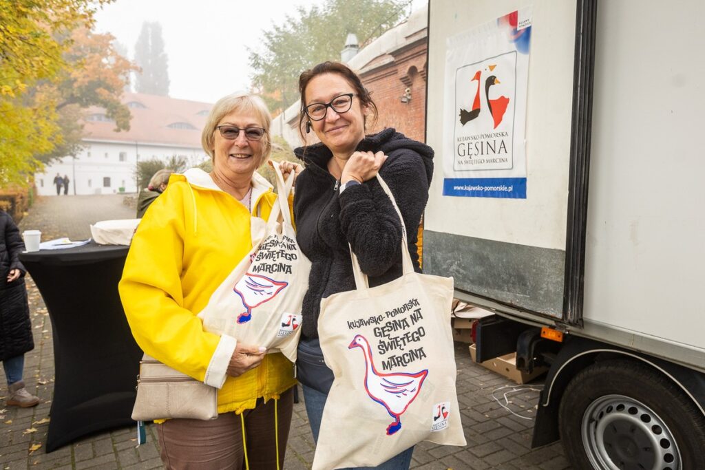
<path fill-rule="evenodd" d="M 159 23 L 142 23 L 142 31 L 135 44 L 135 63 L 142 69 L 137 73 L 135 91 L 168 96 L 168 56 L 164 51 Z"/>

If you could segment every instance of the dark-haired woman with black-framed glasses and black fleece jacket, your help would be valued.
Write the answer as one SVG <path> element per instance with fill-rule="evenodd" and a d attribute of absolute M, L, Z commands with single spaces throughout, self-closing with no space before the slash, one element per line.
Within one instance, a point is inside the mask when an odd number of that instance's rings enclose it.
<path fill-rule="evenodd" d="M 407 229 L 407 247 L 420 271 L 417 229 L 428 199 L 434 151 L 391 128 L 366 136 L 367 118 L 376 118 L 376 106 L 357 74 L 342 63 L 324 62 L 305 71 L 299 89 L 300 124 L 321 142 L 295 149 L 305 169 L 288 162 L 281 168 L 296 173 L 296 239 L 312 263 L 297 365 L 317 440 L 333 381 L 318 340 L 321 299 L 355 289 L 350 248 L 371 287 L 402 274 L 401 223 L 377 173 L 396 199 Z M 408 469 L 412 452 L 413 447 L 376 468 Z"/>

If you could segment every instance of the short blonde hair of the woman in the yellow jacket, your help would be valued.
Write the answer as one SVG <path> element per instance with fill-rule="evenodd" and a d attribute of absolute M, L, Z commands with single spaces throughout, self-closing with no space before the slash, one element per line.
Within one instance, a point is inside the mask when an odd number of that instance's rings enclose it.
<path fill-rule="evenodd" d="M 228 94 L 226 97 L 222 97 L 216 102 L 208 115 L 206 125 L 201 133 L 201 145 L 203 149 L 211 157 L 211 161 L 214 161 L 215 155 L 213 149 L 215 146 L 216 127 L 221 119 L 228 116 L 230 113 L 254 113 L 255 116 L 259 117 L 259 120 L 262 122 L 262 127 L 264 128 L 264 135 L 260 141 L 262 142 L 262 155 L 259 156 L 257 166 L 262 166 L 269 158 L 269 152 L 271 151 L 271 136 L 269 135 L 271 116 L 269 115 L 269 109 L 267 109 L 266 104 L 264 104 L 264 100 L 255 94 L 235 92 Z"/>

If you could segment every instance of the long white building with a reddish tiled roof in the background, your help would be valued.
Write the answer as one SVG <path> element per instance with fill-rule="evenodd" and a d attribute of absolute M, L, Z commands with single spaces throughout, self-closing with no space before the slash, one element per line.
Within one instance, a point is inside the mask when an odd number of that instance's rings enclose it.
<path fill-rule="evenodd" d="M 83 128 L 85 148 L 35 174 L 39 195 L 56 194 L 56 173 L 68 175 L 68 194 L 137 192 L 137 161 L 176 155 L 197 164 L 209 158 L 201 147 L 201 130 L 212 104 L 142 93 L 125 93 L 123 103 L 132 113 L 130 130 L 115 132 L 104 109 L 90 108 Z"/>

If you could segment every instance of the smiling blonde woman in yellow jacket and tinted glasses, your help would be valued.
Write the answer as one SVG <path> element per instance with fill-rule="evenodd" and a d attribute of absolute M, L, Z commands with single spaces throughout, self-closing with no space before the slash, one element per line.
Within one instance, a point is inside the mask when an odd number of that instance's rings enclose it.
<path fill-rule="evenodd" d="M 125 262 L 120 295 L 137 344 L 219 388 L 218 419 L 157 424 L 161 459 L 170 469 L 283 466 L 293 365 L 281 353 L 209 333 L 197 318 L 252 249 L 251 217 L 267 218 L 276 199 L 256 172 L 269 157 L 270 125 L 259 97 L 220 99 L 202 133 L 213 170 L 172 175 L 142 218 Z"/>

